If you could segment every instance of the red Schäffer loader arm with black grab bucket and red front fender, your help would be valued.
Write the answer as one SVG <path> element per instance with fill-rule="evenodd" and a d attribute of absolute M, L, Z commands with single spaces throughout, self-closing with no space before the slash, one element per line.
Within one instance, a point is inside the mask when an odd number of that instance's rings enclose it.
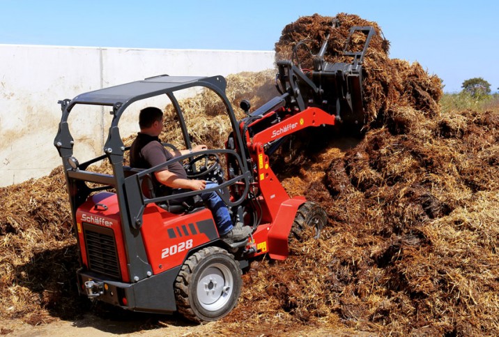
<path fill-rule="evenodd" d="M 358 52 L 349 52 L 348 45 L 354 33 L 364 33 L 364 45 Z M 272 155 L 287 137 L 310 127 L 346 124 L 360 128 L 364 124 L 362 102 L 362 63 L 367 52 L 372 27 L 352 27 L 346 41 L 344 56 L 351 63 L 328 63 L 324 54 L 328 38 L 314 59 L 314 69 L 306 73 L 293 61 L 278 61 L 276 87 L 281 96 L 249 113 L 249 103 L 241 105 L 247 117 L 240 121 L 240 135 L 245 144 L 244 153 L 252 170 L 252 195 L 259 209 L 258 230 L 254 239 L 261 245 L 258 253 L 268 253 L 274 259 L 284 259 L 288 252 L 288 236 L 295 214 L 304 197 L 289 197 L 270 167 Z"/>

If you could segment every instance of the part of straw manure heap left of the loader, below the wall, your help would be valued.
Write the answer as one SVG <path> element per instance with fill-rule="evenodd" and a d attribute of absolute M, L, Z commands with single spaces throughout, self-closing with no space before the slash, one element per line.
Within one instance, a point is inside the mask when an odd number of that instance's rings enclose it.
<path fill-rule="evenodd" d="M 76 239 L 61 167 L 0 188 L 0 315 L 39 324 L 74 317 Z"/>

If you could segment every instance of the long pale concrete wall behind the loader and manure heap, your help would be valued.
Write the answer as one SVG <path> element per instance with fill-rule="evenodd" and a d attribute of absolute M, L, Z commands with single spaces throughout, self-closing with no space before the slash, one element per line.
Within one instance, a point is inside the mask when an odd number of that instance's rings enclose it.
<path fill-rule="evenodd" d="M 255 51 L 0 45 L 0 186 L 43 177 L 61 165 L 53 145 L 58 100 L 155 75 L 260 71 L 273 68 L 273 60 L 273 52 Z M 88 138 L 89 157 L 102 153 L 107 113 L 89 109 L 71 130 L 75 139 Z M 123 137 L 135 133 L 137 121 L 128 121 L 124 130 Z"/>

